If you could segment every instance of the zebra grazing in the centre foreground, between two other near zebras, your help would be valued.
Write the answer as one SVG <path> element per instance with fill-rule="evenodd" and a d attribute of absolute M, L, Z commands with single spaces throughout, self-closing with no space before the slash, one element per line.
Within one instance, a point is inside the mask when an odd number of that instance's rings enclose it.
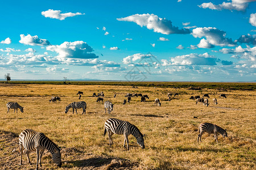
<path fill-rule="evenodd" d="M 127 142 L 127 149 L 129 150 L 129 141 L 128 141 L 128 136 L 132 134 L 136 139 L 137 143 L 139 146 L 142 148 L 145 148 L 144 146 L 144 139 L 141 131 L 133 125 L 130 124 L 127 121 L 122 121 L 118 120 L 116 118 L 109 118 L 105 122 L 105 127 L 104 127 L 104 136 L 108 133 L 109 136 L 109 145 L 112 146 L 113 141 L 112 141 L 112 135 L 113 134 L 123 134 L 125 136 L 125 141 L 123 143 L 123 147 L 125 147 L 125 142 Z"/>

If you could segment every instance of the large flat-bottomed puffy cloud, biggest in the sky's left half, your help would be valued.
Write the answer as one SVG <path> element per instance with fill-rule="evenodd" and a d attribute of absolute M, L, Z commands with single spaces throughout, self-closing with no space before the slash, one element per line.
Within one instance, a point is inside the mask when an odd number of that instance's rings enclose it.
<path fill-rule="evenodd" d="M 51 45 L 46 48 L 49 51 L 59 54 L 59 58 L 98 58 L 90 47 L 84 41 L 63 42 L 60 45 Z"/>

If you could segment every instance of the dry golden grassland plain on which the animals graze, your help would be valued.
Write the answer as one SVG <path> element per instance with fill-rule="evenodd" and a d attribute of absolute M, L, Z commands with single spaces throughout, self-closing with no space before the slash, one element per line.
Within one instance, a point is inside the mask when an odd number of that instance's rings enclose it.
<path fill-rule="evenodd" d="M 123 82 L 121 82 L 123 83 Z M 151 84 L 151 85 L 148 85 Z M 152 85 L 154 84 L 154 85 Z M 19 166 L 18 134 L 26 129 L 41 131 L 63 148 L 61 151 L 64 169 L 254 169 L 255 168 L 255 83 L 133 83 L 113 86 L 97 83 L 88 85 L 60 84 L 3 84 L 0 83 L 0 169 L 34 169 L 35 153 L 31 154 L 32 165 L 24 159 Z M 205 88 L 207 86 L 209 88 Z M 111 86 L 112 85 L 112 86 Z M 168 85 L 168 86 L 167 86 Z M 223 86 L 224 86 L 223 85 Z M 138 88 L 132 88 L 138 86 Z M 214 88 L 212 88 L 215 86 Z M 235 90 L 243 86 L 243 90 Z M 188 90 L 200 87 L 201 90 Z M 228 88 L 230 87 L 230 88 Z M 250 89 L 247 89 L 250 87 Z M 81 100 L 86 101 L 86 114 L 64 113 L 65 106 L 78 101 L 77 91 L 83 91 Z M 104 105 L 96 103 L 93 92 L 104 91 L 104 100 L 114 103 L 114 110 L 105 114 Z M 224 92 L 223 92 L 224 91 Z M 147 94 L 150 99 L 141 103 L 139 97 L 122 105 L 127 92 Z M 167 101 L 167 92 L 180 95 Z M 114 98 L 113 95 L 117 94 Z M 210 105 L 195 104 L 191 95 L 210 95 Z M 224 93 L 227 99 L 218 95 Z M 60 103 L 49 103 L 51 96 L 60 96 Z M 218 105 L 213 105 L 216 97 Z M 161 107 L 154 100 L 162 101 Z M 6 103 L 16 101 L 24 107 L 24 113 L 6 113 Z M 115 117 L 136 125 L 143 134 L 142 149 L 134 137 L 129 137 L 130 150 L 123 148 L 123 135 L 113 135 L 113 146 L 103 137 L 104 122 Z M 204 134 L 197 144 L 197 129 L 201 122 L 212 122 L 227 129 L 230 139 L 220 135 L 218 144 L 213 135 Z M 42 159 L 44 169 L 57 168 L 46 152 Z M 60 169 L 62 169 L 60 168 Z"/>

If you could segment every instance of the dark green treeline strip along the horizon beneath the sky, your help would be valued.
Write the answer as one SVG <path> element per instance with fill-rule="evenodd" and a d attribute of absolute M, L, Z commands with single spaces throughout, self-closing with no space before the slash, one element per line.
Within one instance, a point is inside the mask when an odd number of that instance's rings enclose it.
<path fill-rule="evenodd" d="M 5 83 L 5 81 L 0 81 Z M 61 81 L 10 81 L 8 84 L 65 84 Z M 188 88 L 201 90 L 201 88 L 218 90 L 256 90 L 256 83 L 246 82 L 77 82 L 69 81 L 65 85 L 106 85 L 106 86 L 133 86 L 133 87 L 164 87 L 164 88 Z M 1 86 L 1 84 L 0 84 Z"/>

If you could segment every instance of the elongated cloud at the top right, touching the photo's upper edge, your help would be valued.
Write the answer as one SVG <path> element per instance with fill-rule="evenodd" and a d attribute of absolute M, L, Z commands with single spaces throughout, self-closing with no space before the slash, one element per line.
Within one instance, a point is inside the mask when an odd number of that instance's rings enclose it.
<path fill-rule="evenodd" d="M 251 1 L 247 1 L 251 2 Z M 237 11 L 245 11 L 247 8 L 248 4 L 246 1 L 232 1 L 232 2 L 223 2 L 218 5 L 214 5 L 212 2 L 209 3 L 202 3 L 199 5 L 200 8 L 209 8 L 211 10 L 237 10 Z"/>

